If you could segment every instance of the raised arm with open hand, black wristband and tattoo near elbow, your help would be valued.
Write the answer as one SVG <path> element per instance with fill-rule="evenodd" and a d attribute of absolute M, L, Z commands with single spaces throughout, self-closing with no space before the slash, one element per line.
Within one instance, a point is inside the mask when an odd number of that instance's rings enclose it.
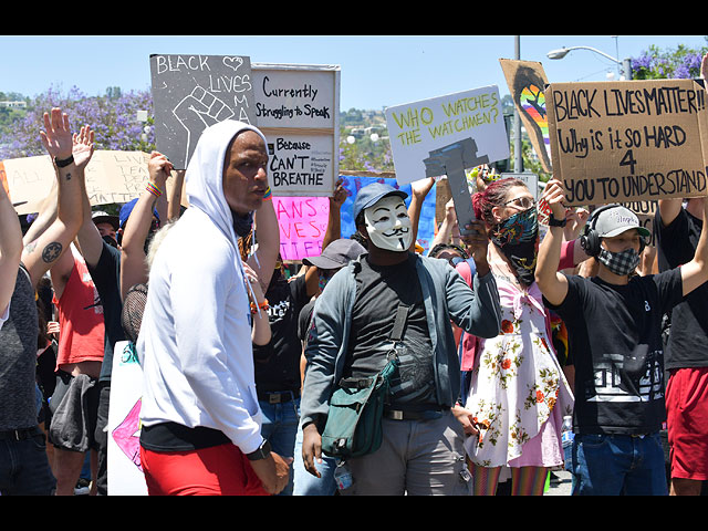
<path fill-rule="evenodd" d="M 56 169 L 58 211 L 56 219 L 22 251 L 22 263 L 30 273 L 33 287 L 37 287 L 42 275 L 69 248 L 81 227 L 83 216 L 83 179 L 77 170 L 77 162 L 82 154 L 77 153 L 74 156 L 72 153 L 73 139 L 69 116 L 62 113 L 61 108 L 52 108 L 51 115 L 44 113 L 44 129 L 40 132 L 40 137 Z"/>

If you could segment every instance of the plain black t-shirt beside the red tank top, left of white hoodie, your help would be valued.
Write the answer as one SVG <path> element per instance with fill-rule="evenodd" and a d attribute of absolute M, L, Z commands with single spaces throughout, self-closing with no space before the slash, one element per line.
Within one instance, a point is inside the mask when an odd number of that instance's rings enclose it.
<path fill-rule="evenodd" d="M 93 283 L 96 287 L 105 323 L 105 342 L 103 364 L 101 365 L 101 382 L 111 382 L 113 372 L 113 347 L 118 341 L 127 337 L 121 322 L 123 300 L 121 299 L 121 251 L 103 242 L 103 251 L 95 268 L 86 264 Z"/>

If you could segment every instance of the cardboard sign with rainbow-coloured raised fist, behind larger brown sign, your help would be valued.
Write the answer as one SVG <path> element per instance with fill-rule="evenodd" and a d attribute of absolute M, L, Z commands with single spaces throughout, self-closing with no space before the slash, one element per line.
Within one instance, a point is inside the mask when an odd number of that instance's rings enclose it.
<path fill-rule="evenodd" d="M 551 173 L 551 138 L 545 110 L 545 85 L 549 84 L 541 63 L 500 59 L 509 92 L 525 126 L 533 150 L 544 171 Z"/>

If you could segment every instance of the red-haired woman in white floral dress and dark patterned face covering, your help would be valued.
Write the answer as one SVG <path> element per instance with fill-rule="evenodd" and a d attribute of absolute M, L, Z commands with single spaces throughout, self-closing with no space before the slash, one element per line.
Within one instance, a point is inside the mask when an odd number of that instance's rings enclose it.
<path fill-rule="evenodd" d="M 488 260 L 502 306 L 501 334 L 475 340 L 466 397 L 479 430 L 466 441 L 475 494 L 493 494 L 502 467 L 511 470 L 513 494 L 541 494 L 548 469 L 563 464 L 561 425 L 573 396 L 534 281 L 535 201 L 523 181 L 501 179 L 472 202 L 493 243 Z"/>

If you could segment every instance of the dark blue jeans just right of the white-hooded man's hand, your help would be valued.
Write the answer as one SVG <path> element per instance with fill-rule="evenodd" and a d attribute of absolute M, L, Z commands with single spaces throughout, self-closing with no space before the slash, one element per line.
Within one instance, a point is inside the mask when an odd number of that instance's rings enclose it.
<path fill-rule="evenodd" d="M 261 435 L 268 439 L 272 450 L 281 457 L 293 457 L 295 449 L 295 436 L 300 424 L 300 398 L 282 404 L 270 404 L 266 400 L 258 402 L 263 413 Z M 282 496 L 292 494 L 292 466 L 290 480 Z"/>

